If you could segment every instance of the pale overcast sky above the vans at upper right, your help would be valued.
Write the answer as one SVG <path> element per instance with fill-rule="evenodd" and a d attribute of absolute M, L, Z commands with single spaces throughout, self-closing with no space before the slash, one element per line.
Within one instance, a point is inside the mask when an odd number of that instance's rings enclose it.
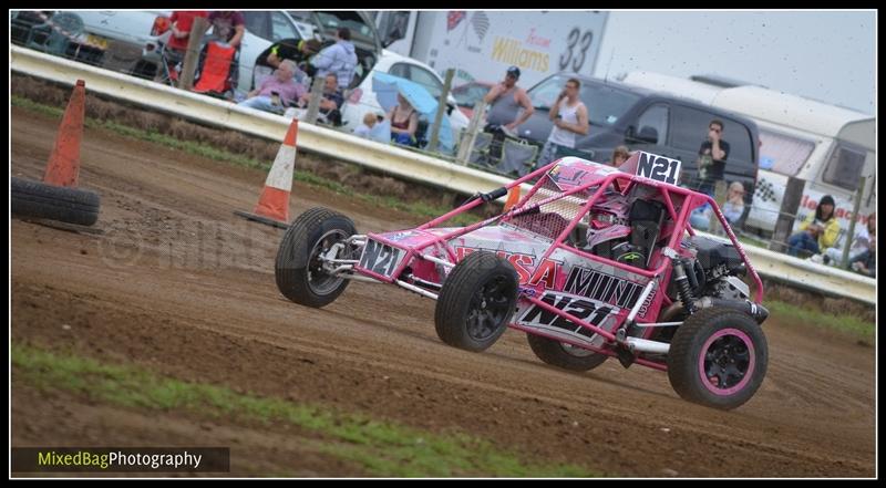
<path fill-rule="evenodd" d="M 595 74 L 719 74 L 873 114 L 875 28 L 873 11 L 612 11 Z"/>

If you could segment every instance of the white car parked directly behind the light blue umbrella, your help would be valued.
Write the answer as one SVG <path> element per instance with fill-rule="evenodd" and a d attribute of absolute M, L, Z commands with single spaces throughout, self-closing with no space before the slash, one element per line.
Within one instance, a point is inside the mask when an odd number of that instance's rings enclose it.
<path fill-rule="evenodd" d="M 372 71 L 363 77 L 360 85 L 353 89 L 344 102 L 342 122 L 344 128 L 353 129 L 363 122 L 363 116 L 369 113 L 383 114 L 385 111 L 379 104 L 375 92 L 372 91 L 372 73 L 380 71 L 394 76 L 404 77 L 427 89 L 434 98 L 443 93 L 443 79 L 427 64 L 400 55 L 393 51 L 383 50 L 381 58 L 372 66 Z M 447 97 L 447 112 L 453 131 L 453 141 L 459 141 L 461 129 L 467 128 L 471 122 L 462 111 L 457 110 L 455 97 L 452 93 Z"/>

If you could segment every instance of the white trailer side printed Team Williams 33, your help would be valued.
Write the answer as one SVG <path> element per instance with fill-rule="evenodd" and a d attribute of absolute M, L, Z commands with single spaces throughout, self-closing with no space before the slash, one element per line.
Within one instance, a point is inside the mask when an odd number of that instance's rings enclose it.
<path fill-rule="evenodd" d="M 456 86 L 499 81 L 512 65 L 524 87 L 562 71 L 593 75 L 607 18 L 596 10 L 375 12 L 388 49 L 440 73 L 455 69 Z"/>

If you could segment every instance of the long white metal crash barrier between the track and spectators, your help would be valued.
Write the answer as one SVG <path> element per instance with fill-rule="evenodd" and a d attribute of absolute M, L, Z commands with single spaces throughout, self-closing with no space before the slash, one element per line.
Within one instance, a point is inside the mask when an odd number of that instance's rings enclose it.
<path fill-rule="evenodd" d="M 14 72 L 69 85 L 76 80 L 84 80 L 87 92 L 203 124 L 272 141 L 282 141 L 289 126 L 289 120 L 279 115 L 257 113 L 220 100 L 17 45 L 10 45 L 9 59 Z M 509 183 L 498 175 L 311 124 L 299 126 L 298 144 L 299 148 L 309 152 L 463 194 L 488 191 Z M 524 191 L 529 188 L 529 185 L 523 185 Z M 746 246 L 744 249 L 762 277 L 828 295 L 876 304 L 875 279 L 762 248 Z"/>

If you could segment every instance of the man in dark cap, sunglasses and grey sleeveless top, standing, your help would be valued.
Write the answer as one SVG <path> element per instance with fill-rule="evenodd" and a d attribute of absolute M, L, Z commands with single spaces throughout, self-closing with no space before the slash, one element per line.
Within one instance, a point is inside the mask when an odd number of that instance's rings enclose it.
<path fill-rule="evenodd" d="M 491 104 L 486 115 L 484 132 L 493 134 L 490 145 L 490 155 L 495 159 L 502 158 L 502 144 L 505 135 L 516 137 L 517 126 L 526 122 L 535 112 L 529 95 L 517 86 L 519 68 L 511 66 L 505 73 L 505 80 L 490 89 L 483 101 Z M 521 108 L 523 113 L 519 114 Z"/>

